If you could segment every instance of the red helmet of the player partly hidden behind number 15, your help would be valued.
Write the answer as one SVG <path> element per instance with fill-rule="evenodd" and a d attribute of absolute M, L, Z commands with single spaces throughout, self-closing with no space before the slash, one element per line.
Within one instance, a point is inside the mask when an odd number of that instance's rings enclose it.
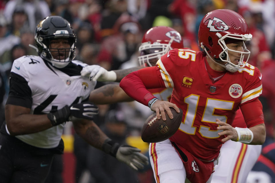
<path fill-rule="evenodd" d="M 152 66 L 149 60 L 160 59 L 169 50 L 182 47 L 182 37 L 178 31 L 166 26 L 152 27 L 142 38 L 138 61 L 140 65 Z"/>

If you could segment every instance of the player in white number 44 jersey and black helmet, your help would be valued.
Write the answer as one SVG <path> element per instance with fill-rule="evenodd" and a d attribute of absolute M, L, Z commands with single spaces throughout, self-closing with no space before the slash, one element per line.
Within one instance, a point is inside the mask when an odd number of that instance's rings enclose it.
<path fill-rule="evenodd" d="M 39 56 L 20 57 L 11 69 L 0 133 L 0 182 L 44 182 L 53 155 L 63 153 L 61 135 L 69 120 L 90 145 L 143 168 L 148 158 L 139 149 L 112 141 L 92 121 L 98 108 L 85 101 L 96 82 L 80 76 L 86 64 L 72 61 L 76 36 L 70 23 L 46 17 L 36 27 L 35 40 Z"/>

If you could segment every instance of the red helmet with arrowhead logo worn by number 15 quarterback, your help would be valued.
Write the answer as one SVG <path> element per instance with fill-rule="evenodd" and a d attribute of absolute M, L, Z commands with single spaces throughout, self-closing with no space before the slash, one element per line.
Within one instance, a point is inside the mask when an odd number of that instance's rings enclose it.
<path fill-rule="evenodd" d="M 250 51 L 246 49 L 244 41 L 250 41 L 252 35 L 249 33 L 243 17 L 235 11 L 217 9 L 207 13 L 201 21 L 198 38 L 199 46 L 208 55 L 214 57 L 213 61 L 221 60 L 227 62 L 222 66 L 230 72 L 236 72 L 239 68 L 245 66 L 243 62 L 245 55 L 247 55 L 246 61 L 248 61 Z M 226 43 L 238 41 L 243 41 L 243 51 L 234 51 L 226 46 Z M 238 65 L 231 63 L 228 51 L 241 53 Z"/>

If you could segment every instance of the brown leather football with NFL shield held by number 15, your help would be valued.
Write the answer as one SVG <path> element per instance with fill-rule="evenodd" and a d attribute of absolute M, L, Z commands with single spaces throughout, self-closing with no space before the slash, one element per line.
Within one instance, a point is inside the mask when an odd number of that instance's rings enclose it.
<path fill-rule="evenodd" d="M 157 119 L 156 112 L 151 114 L 145 121 L 141 138 L 144 142 L 161 142 L 176 133 L 180 127 L 182 120 L 182 110 L 177 113 L 174 108 L 170 108 L 173 119 L 170 119 L 165 111 L 166 121 L 163 121 L 160 117 L 160 120 Z"/>

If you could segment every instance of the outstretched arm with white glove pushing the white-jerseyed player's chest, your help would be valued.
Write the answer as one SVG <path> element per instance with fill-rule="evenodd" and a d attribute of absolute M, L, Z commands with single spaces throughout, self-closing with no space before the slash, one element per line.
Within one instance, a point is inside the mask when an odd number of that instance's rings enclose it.
<path fill-rule="evenodd" d="M 99 65 L 88 65 L 84 67 L 81 71 L 82 77 L 89 77 L 90 80 L 93 81 L 116 81 L 120 82 L 123 77 L 127 74 L 137 71 L 139 69 L 144 68 L 143 66 L 139 67 L 132 67 L 129 69 L 120 69 L 120 70 L 113 70 L 107 71 L 103 67 Z"/>

